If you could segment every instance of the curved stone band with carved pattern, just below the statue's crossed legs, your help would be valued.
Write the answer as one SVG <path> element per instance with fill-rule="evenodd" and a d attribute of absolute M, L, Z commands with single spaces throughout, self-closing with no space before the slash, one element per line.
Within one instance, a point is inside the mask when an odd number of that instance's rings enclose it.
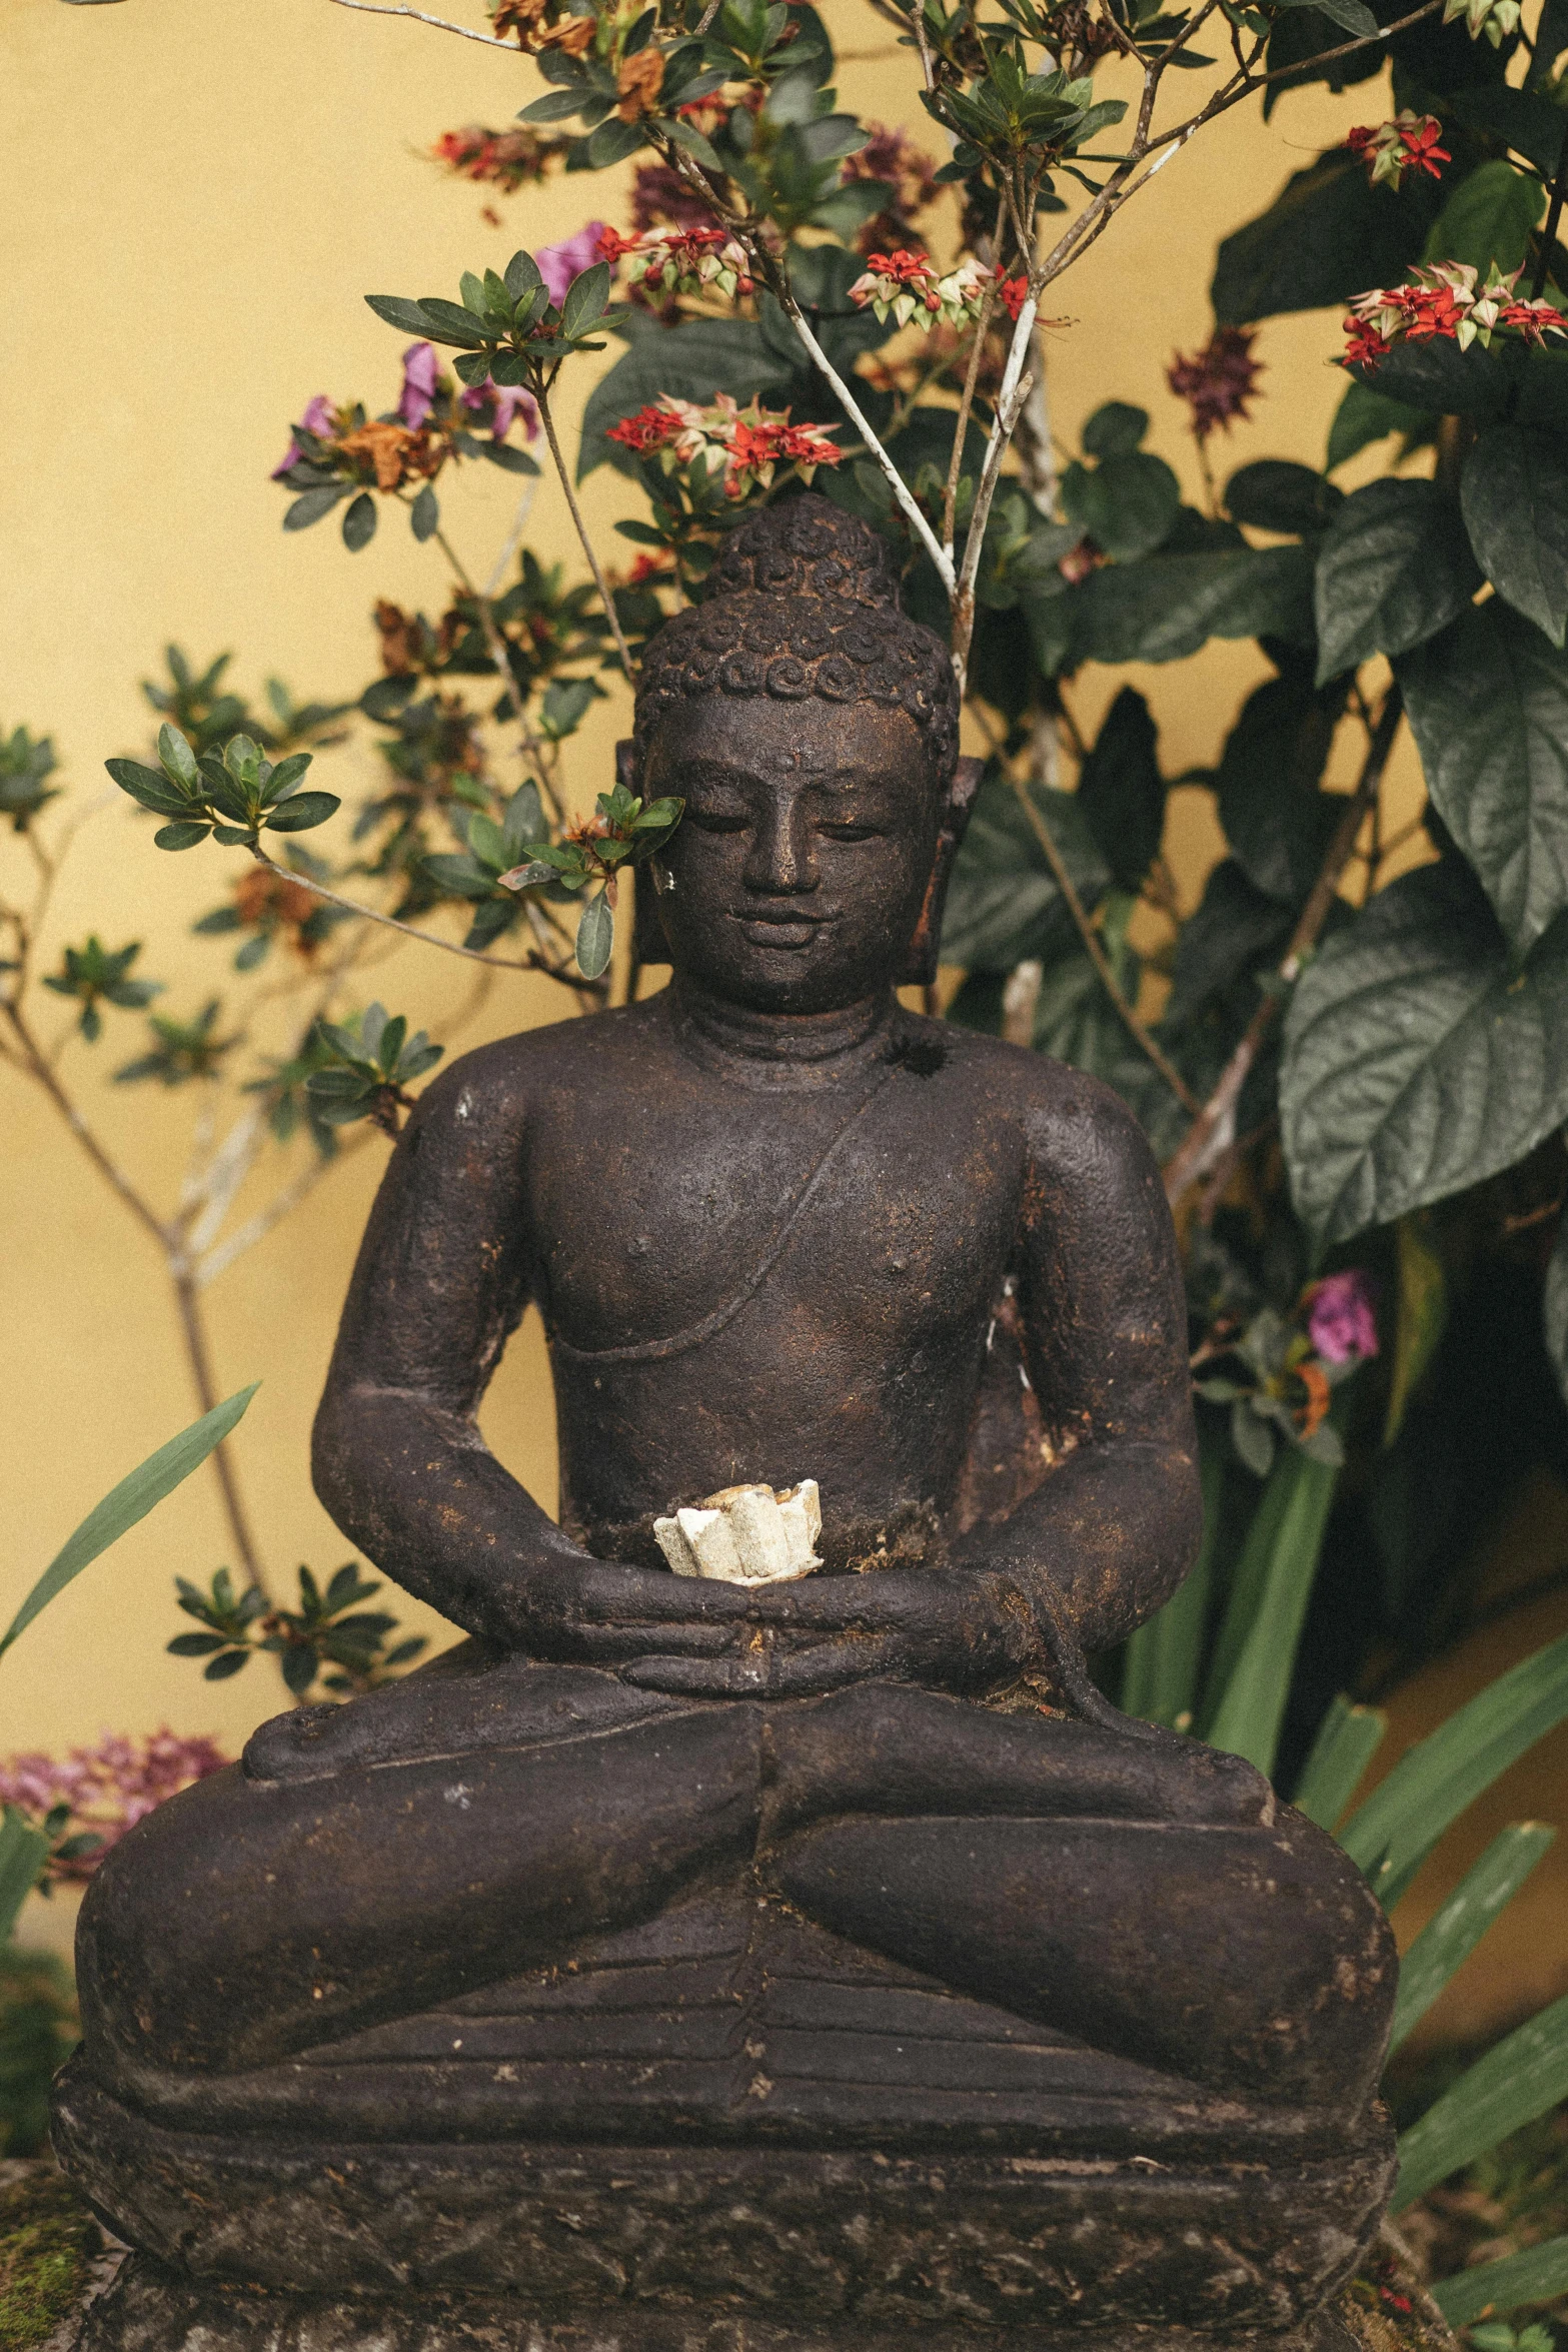
<path fill-rule="evenodd" d="M 863 2150 L 320 2147 L 66 2086 L 73 2178 L 139 2249 L 296 2293 L 501 2288 L 543 2324 L 1295 2326 L 1354 2270 L 1382 2147 L 1300 2166 Z M 618 2314 L 618 2319 L 616 2319 Z M 693 2321 L 696 2324 L 696 2321 Z"/>

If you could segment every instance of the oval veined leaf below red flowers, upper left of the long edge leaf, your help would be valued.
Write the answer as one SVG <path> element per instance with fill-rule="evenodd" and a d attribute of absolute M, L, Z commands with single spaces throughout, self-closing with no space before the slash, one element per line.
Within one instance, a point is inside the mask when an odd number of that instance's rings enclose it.
<path fill-rule="evenodd" d="M 1316 560 L 1319 684 L 1434 637 L 1479 586 L 1460 513 L 1434 482 L 1356 489 Z"/>

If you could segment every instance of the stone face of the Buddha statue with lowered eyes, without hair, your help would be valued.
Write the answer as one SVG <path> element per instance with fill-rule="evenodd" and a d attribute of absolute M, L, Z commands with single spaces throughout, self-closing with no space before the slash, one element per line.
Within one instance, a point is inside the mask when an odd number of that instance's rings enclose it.
<path fill-rule="evenodd" d="M 656 861 L 677 974 L 792 1014 L 898 978 L 940 814 L 905 710 L 715 694 L 665 715 L 639 790 L 686 802 Z"/>

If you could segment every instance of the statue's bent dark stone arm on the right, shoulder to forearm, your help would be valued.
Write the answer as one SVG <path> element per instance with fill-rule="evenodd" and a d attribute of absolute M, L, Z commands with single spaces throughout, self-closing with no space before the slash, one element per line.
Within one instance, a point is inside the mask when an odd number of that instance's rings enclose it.
<path fill-rule="evenodd" d="M 1159 1167 L 1124 1103 L 1041 1070 L 1025 1110 L 1018 1308 L 1058 1449 L 1046 1482 L 966 1543 L 973 1566 L 1046 1602 L 1086 1649 L 1121 1642 L 1197 1557 L 1201 1494 L 1187 1312 Z"/>

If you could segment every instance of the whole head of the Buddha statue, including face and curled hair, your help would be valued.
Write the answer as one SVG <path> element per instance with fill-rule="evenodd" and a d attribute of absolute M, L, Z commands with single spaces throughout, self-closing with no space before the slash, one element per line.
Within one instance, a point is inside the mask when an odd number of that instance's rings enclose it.
<path fill-rule="evenodd" d="M 799 496 L 738 524 L 708 600 L 651 640 L 635 727 L 628 781 L 686 802 L 644 960 L 764 1011 L 931 976 L 978 762 L 947 649 L 865 522 Z"/>

